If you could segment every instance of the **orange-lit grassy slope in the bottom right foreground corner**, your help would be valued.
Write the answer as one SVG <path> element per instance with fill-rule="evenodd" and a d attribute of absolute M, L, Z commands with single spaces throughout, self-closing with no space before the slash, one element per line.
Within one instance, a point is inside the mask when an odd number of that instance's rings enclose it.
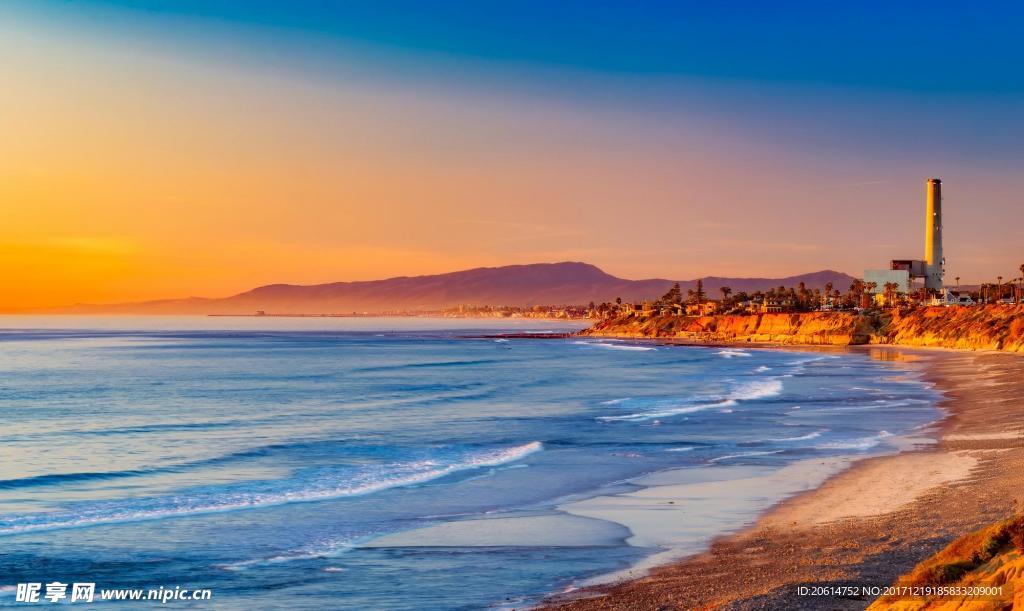
<path fill-rule="evenodd" d="M 994 591 L 995 594 L 882 597 L 868 607 L 868 611 L 1024 609 L 1022 554 L 1024 554 L 1024 516 L 993 524 L 956 539 L 896 582 L 897 586 L 908 587 L 938 585 L 998 588 Z"/>

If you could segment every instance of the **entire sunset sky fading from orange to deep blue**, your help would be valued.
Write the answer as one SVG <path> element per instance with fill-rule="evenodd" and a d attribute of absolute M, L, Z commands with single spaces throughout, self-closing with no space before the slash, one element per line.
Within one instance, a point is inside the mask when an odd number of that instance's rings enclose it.
<path fill-rule="evenodd" d="M 1005 2 L 0 3 L 0 311 L 478 266 L 1024 263 Z"/>

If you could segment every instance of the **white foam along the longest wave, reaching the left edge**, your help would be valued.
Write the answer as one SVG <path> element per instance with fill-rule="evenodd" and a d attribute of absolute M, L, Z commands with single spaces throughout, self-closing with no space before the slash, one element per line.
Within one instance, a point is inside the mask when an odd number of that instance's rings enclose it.
<path fill-rule="evenodd" d="M 519 461 L 542 449 L 544 445 L 540 441 L 531 441 L 514 447 L 470 453 L 446 465 L 432 460 L 395 464 L 390 466 L 389 471 L 385 470 L 376 475 L 365 475 L 354 480 L 317 481 L 304 487 L 298 486 L 284 491 L 236 491 L 191 497 L 182 495 L 163 499 L 141 499 L 142 504 L 136 507 L 132 507 L 129 501 L 122 506 L 103 504 L 78 512 L 72 510 L 42 516 L 7 517 L 0 519 L 0 535 L 359 496 L 390 488 L 426 483 L 460 471 L 498 467 Z"/>

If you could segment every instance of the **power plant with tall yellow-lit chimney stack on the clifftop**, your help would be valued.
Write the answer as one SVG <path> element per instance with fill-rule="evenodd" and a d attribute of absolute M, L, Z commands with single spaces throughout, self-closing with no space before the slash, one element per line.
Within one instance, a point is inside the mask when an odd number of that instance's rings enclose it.
<path fill-rule="evenodd" d="M 942 256 L 942 181 L 929 178 L 925 183 L 925 258 L 893 259 L 889 269 L 865 269 L 864 281 L 874 283 L 874 293 L 882 293 L 888 283 L 895 283 L 899 293 L 910 293 L 913 280 L 923 278 L 929 293 L 942 292 L 945 274 Z"/>

